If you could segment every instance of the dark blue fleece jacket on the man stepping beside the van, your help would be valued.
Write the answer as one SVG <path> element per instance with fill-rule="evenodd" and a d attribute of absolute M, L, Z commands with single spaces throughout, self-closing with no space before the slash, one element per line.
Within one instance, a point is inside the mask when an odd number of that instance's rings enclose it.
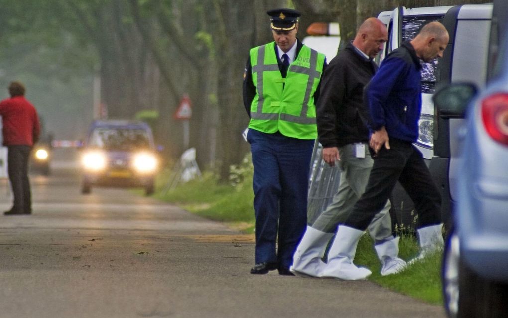
<path fill-rule="evenodd" d="M 371 131 L 385 126 L 390 138 L 416 141 L 422 110 L 420 59 L 409 42 L 381 63 L 364 92 Z"/>

